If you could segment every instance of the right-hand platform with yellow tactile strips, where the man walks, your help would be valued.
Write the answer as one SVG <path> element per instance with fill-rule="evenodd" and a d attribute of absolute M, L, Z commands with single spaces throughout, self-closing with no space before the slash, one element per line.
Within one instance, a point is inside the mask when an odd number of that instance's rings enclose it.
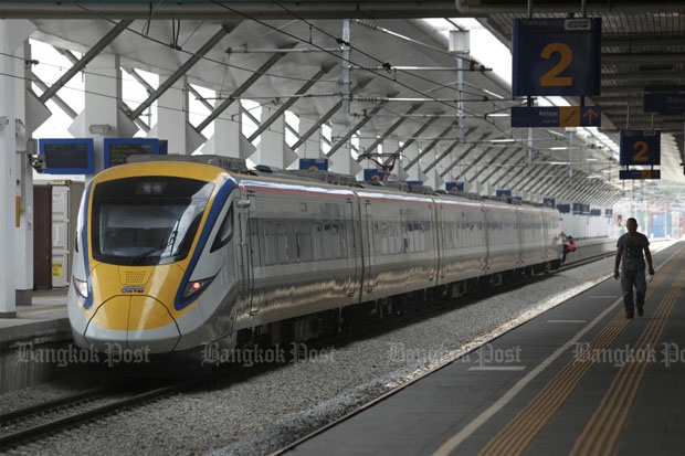
<path fill-rule="evenodd" d="M 288 454 L 682 455 L 685 243 L 653 257 L 644 316 L 610 278 Z"/>

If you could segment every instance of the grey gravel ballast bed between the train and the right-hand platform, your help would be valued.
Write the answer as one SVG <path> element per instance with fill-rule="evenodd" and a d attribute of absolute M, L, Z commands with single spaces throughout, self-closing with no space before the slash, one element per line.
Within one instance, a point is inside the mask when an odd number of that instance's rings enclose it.
<path fill-rule="evenodd" d="M 563 271 L 380 336 L 318 349 L 249 381 L 166 397 L 9 453 L 267 454 L 486 343 L 608 278 L 612 269 L 613 258 L 605 258 Z M 78 379 L 45 383 L 3 394 L 1 406 L 9 411 L 78 388 L 84 388 Z"/>

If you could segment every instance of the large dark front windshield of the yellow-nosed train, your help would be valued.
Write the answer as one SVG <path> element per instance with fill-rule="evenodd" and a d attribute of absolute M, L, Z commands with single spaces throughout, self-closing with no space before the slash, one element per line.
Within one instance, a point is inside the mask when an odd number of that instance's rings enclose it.
<path fill-rule="evenodd" d="M 93 256 L 119 265 L 183 259 L 213 187 L 205 181 L 172 177 L 98 183 L 93 194 Z"/>

